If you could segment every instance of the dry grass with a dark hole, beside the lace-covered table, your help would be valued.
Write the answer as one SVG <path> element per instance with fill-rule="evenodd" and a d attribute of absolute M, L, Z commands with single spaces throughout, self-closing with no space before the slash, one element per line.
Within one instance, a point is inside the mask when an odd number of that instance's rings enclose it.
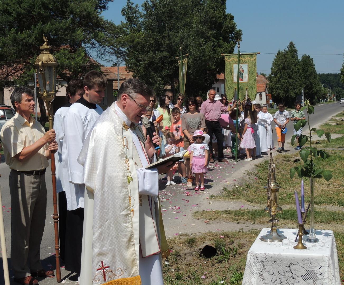
<path fill-rule="evenodd" d="M 186 245 L 186 237 L 174 237 L 168 240 L 171 255 L 163 261 L 163 277 L 165 285 L 235 285 L 241 284 L 245 271 L 247 252 L 255 241 L 260 230 L 248 232 L 234 231 L 213 233 L 207 232 L 196 237 L 193 248 Z M 227 262 L 218 262 L 219 256 L 204 259 L 198 256 L 201 245 L 207 243 L 215 246 L 215 241 L 222 235 L 225 250 L 229 251 L 230 257 Z M 338 261 L 341 280 L 344 278 L 344 233 L 334 232 L 337 243 Z M 234 241 L 234 243 L 232 243 Z M 236 256 L 233 251 L 236 247 Z M 228 256 L 227 256 L 228 257 Z M 204 274 L 206 273 L 206 274 Z M 205 276 L 205 278 L 201 278 Z M 222 282 L 224 281 L 224 282 Z"/>

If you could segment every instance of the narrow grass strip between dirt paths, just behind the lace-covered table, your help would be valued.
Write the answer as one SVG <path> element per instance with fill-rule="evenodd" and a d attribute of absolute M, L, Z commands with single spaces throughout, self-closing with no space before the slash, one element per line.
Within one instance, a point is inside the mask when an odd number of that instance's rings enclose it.
<path fill-rule="evenodd" d="M 193 217 L 206 220 L 222 220 L 222 221 L 254 221 L 256 223 L 267 223 L 269 214 L 264 210 L 216 210 L 216 211 L 196 211 Z M 283 209 L 277 218 L 283 221 L 291 221 L 297 223 L 296 209 Z M 331 224 L 344 222 L 344 214 L 342 211 L 316 210 L 314 209 L 314 219 L 316 223 Z M 306 223 L 310 220 L 310 213 L 307 215 Z"/>

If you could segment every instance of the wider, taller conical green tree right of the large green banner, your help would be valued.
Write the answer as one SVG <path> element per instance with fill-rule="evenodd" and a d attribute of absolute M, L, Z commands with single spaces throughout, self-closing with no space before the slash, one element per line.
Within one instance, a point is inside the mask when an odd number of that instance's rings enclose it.
<path fill-rule="evenodd" d="M 300 61 L 293 42 L 289 43 L 287 49 L 278 50 L 268 80 L 274 102 L 284 102 L 291 106 L 301 94 Z"/>

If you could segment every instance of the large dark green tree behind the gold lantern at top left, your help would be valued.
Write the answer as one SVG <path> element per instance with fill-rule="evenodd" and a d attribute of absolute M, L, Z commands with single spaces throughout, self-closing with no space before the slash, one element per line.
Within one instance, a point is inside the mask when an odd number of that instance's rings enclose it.
<path fill-rule="evenodd" d="M 46 34 L 60 63 L 58 75 L 69 81 L 107 60 L 121 27 L 101 17 L 113 0 L 3 0 L 0 1 L 0 68 L 3 85 L 25 84 L 33 78 L 33 62 Z"/>

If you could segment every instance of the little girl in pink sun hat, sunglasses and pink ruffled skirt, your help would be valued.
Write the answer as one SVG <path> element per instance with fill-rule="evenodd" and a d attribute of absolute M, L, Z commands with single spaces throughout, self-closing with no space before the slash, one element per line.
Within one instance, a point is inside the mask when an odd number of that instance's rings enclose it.
<path fill-rule="evenodd" d="M 187 149 L 190 152 L 190 166 L 195 174 L 196 187 L 198 191 L 198 179 L 201 177 L 201 191 L 204 191 L 204 173 L 208 172 L 208 151 L 209 146 L 204 142 L 203 131 L 196 130 L 193 134 L 194 143 Z"/>

